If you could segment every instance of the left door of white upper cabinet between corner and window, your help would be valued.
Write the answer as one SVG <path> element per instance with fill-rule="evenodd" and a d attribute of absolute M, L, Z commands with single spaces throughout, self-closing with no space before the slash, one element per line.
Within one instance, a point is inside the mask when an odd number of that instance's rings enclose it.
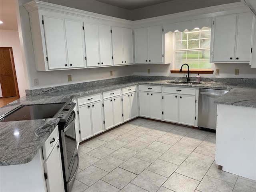
<path fill-rule="evenodd" d="M 148 63 L 148 28 L 134 29 L 135 63 Z"/>

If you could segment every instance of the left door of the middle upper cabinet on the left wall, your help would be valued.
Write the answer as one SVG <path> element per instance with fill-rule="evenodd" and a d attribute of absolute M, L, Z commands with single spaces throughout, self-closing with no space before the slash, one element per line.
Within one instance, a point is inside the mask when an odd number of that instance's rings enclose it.
<path fill-rule="evenodd" d="M 100 66 L 98 25 L 84 23 L 87 67 Z"/>

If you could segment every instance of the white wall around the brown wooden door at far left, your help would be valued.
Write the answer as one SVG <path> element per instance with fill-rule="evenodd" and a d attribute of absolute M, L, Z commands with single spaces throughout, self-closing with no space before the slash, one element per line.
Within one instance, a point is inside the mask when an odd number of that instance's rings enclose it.
<path fill-rule="evenodd" d="M 23 68 L 23 62 L 22 62 L 22 54 L 21 54 L 20 39 L 19 39 L 18 31 L 0 30 L 0 46 L 12 47 L 19 93 L 20 93 L 20 97 L 23 97 L 26 95 L 25 90 L 27 87 L 26 87 L 26 80 L 24 75 L 24 68 Z M 1 90 L 1 94 L 2 94 L 2 90 Z"/>

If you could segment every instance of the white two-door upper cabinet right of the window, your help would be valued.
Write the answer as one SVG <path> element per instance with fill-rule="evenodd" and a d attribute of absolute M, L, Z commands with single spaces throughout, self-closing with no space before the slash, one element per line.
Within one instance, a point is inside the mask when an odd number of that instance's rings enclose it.
<path fill-rule="evenodd" d="M 213 26 L 210 62 L 249 62 L 252 14 L 216 16 Z"/>

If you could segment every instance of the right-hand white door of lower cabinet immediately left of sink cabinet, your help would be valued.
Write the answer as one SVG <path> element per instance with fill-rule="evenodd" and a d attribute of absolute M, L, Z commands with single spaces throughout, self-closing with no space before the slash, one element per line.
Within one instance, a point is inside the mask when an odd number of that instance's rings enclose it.
<path fill-rule="evenodd" d="M 162 120 L 162 93 L 150 93 L 150 117 Z"/>

